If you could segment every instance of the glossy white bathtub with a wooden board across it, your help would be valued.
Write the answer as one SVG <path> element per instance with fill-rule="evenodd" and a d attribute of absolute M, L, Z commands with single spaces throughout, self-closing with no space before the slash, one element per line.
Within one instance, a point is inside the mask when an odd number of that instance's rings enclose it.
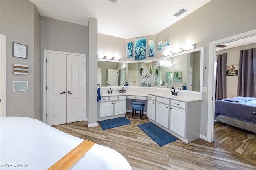
<path fill-rule="evenodd" d="M 47 169 L 84 141 L 28 117 L 0 117 L 0 128 L 0 169 Z M 71 169 L 132 168 L 116 150 L 95 144 Z"/>

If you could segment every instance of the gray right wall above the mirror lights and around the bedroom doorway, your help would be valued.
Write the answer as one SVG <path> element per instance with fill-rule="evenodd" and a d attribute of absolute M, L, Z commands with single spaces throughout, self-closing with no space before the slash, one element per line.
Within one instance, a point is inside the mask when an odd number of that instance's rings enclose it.
<path fill-rule="evenodd" d="M 210 1 L 182 20 L 157 34 L 157 41 L 169 37 L 170 46 L 188 40 L 204 47 L 204 81 L 208 86 L 209 43 L 256 29 L 256 1 Z M 238 12 L 238 9 L 239 12 Z M 242 25 L 242 26 L 241 26 Z M 163 57 L 157 52 L 157 58 Z M 201 102 L 201 134 L 207 136 L 208 93 Z"/>

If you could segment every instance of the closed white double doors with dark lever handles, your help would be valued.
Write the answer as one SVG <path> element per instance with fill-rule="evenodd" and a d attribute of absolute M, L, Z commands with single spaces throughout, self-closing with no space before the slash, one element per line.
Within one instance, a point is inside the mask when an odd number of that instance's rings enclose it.
<path fill-rule="evenodd" d="M 84 57 L 46 54 L 46 123 L 84 120 Z"/>

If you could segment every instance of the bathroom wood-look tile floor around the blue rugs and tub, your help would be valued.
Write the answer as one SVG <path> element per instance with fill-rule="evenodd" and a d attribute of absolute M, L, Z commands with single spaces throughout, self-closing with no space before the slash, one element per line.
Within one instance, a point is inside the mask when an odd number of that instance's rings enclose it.
<path fill-rule="evenodd" d="M 222 149 L 218 143 L 198 139 L 189 144 L 181 140 L 159 147 L 140 128 L 148 123 L 146 115 L 126 114 L 132 123 L 102 131 L 100 125 L 87 127 L 86 121 L 55 125 L 56 129 L 76 137 L 93 141 L 118 151 L 133 169 L 177 170 L 245 170 L 256 169 L 256 162 L 245 156 Z"/>

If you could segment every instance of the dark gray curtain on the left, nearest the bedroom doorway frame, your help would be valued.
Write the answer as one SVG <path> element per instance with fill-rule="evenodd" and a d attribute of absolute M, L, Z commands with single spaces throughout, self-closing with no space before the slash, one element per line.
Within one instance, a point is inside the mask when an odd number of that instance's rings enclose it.
<path fill-rule="evenodd" d="M 215 99 L 227 98 L 227 55 L 218 54 L 217 56 L 217 74 L 216 74 L 216 93 Z"/>

